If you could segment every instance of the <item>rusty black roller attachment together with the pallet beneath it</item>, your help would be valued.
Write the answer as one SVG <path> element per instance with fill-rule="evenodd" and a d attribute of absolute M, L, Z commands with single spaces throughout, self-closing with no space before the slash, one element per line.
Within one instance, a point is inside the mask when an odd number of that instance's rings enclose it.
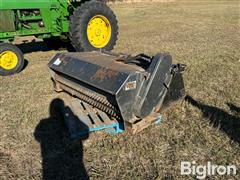
<path fill-rule="evenodd" d="M 49 67 L 55 90 L 74 97 L 69 107 L 89 131 L 136 133 L 184 96 L 185 65 L 173 65 L 169 54 L 58 53 Z"/>

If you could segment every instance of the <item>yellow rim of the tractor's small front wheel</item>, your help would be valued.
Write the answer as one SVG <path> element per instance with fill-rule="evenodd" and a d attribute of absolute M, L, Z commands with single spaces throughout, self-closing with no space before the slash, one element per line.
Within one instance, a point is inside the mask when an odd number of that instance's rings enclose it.
<path fill-rule="evenodd" d="M 18 57 L 13 51 L 4 51 L 0 54 L 0 67 L 6 70 L 14 69 L 18 64 Z"/>

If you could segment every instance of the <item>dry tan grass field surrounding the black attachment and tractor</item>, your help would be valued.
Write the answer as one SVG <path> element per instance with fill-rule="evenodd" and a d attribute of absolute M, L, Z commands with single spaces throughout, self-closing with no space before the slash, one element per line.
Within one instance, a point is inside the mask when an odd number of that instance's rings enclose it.
<path fill-rule="evenodd" d="M 0 179 L 194 179 L 181 161 L 234 164 L 240 179 L 240 3 L 189 1 L 111 5 L 115 52 L 170 52 L 184 63 L 187 100 L 162 124 L 133 136 L 92 135 L 71 145 L 49 114 L 56 94 L 47 63 L 56 51 L 29 45 L 27 67 L 0 77 Z"/>

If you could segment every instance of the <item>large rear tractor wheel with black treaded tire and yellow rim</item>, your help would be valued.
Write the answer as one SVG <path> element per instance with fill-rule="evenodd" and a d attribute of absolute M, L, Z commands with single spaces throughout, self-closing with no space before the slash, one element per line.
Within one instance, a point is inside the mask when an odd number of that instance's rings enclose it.
<path fill-rule="evenodd" d="M 111 51 L 118 25 L 113 11 L 101 1 L 86 1 L 70 17 L 69 37 L 76 51 Z"/>

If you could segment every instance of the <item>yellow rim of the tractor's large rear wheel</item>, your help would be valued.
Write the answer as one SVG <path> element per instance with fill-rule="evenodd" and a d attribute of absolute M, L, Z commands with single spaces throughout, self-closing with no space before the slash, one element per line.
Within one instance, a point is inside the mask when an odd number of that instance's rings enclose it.
<path fill-rule="evenodd" d="M 87 37 L 93 47 L 105 47 L 111 38 L 111 34 L 112 27 L 105 16 L 96 15 L 89 21 L 87 27 Z"/>

